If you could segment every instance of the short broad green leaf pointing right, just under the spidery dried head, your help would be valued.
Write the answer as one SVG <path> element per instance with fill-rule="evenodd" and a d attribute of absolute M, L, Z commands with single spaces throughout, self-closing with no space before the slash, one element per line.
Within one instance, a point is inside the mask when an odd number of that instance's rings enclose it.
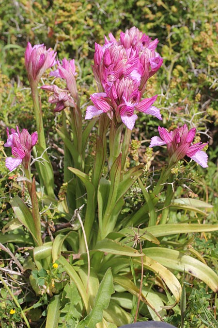
<path fill-rule="evenodd" d="M 109 254 L 126 255 L 126 256 L 143 256 L 136 249 L 120 244 L 119 242 L 112 241 L 105 238 L 103 241 L 96 243 L 94 250 L 106 252 Z"/>

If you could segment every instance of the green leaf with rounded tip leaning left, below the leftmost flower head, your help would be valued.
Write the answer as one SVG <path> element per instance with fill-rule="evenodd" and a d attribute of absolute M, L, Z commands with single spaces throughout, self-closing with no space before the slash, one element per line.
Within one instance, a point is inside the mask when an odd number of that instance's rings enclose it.
<path fill-rule="evenodd" d="M 19 222 L 21 222 L 31 233 L 35 244 L 37 246 L 40 245 L 40 243 L 37 239 L 37 231 L 36 231 L 36 227 L 35 227 L 34 220 L 32 217 L 32 213 L 29 210 L 29 208 L 27 207 L 27 205 L 24 203 L 24 201 L 18 195 L 16 195 L 11 200 L 11 206 L 12 206 Z"/>

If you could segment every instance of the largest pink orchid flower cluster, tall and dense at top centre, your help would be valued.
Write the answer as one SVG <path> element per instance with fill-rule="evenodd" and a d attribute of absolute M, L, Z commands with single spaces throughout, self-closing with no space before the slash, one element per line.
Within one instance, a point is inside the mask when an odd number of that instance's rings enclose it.
<path fill-rule="evenodd" d="M 87 107 L 86 119 L 107 113 L 130 130 L 138 117 L 135 111 L 162 120 L 159 109 L 152 106 L 157 96 L 141 99 L 148 78 L 163 62 L 155 52 L 157 43 L 133 27 L 118 41 L 110 33 L 104 46 L 95 44 L 93 73 L 100 92 L 91 96 L 94 105 Z"/>

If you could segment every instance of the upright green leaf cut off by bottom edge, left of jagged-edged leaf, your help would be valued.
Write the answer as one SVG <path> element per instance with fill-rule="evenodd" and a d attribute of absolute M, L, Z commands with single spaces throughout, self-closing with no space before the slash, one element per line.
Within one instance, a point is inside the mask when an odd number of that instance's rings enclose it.
<path fill-rule="evenodd" d="M 46 328 L 57 328 L 60 316 L 60 295 L 52 297 L 47 308 Z"/>

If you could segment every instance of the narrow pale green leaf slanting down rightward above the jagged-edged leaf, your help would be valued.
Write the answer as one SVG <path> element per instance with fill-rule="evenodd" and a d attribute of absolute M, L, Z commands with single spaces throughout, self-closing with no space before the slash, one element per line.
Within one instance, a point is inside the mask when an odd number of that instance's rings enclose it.
<path fill-rule="evenodd" d="M 77 286 L 78 292 L 80 293 L 80 296 L 83 300 L 84 307 L 87 313 L 90 312 L 90 306 L 89 306 L 89 299 L 88 295 L 86 293 L 84 284 L 82 283 L 82 280 L 78 276 L 78 273 L 75 271 L 72 265 L 70 265 L 69 262 L 67 262 L 66 259 L 64 259 L 62 256 L 59 258 L 59 263 L 62 264 L 64 269 L 66 270 L 67 274 L 71 277 L 71 279 L 74 281 L 74 283 Z"/>

